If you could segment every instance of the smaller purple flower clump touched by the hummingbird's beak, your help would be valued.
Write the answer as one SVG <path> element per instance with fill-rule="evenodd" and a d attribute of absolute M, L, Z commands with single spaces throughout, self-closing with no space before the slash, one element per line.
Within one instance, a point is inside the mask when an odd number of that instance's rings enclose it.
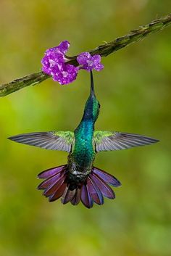
<path fill-rule="evenodd" d="M 78 55 L 77 61 L 81 65 L 80 69 L 101 71 L 104 68 L 104 65 L 101 64 L 101 57 L 98 54 L 91 56 L 89 52 L 83 52 Z"/>

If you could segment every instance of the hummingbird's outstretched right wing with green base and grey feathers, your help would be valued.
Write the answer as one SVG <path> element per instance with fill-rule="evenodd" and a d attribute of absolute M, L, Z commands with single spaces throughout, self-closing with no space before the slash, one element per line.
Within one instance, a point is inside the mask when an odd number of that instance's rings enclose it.
<path fill-rule="evenodd" d="M 156 143 L 157 139 L 134 133 L 120 133 L 118 131 L 94 131 L 93 142 L 96 152 L 130 149 L 134 146 L 144 146 Z"/>

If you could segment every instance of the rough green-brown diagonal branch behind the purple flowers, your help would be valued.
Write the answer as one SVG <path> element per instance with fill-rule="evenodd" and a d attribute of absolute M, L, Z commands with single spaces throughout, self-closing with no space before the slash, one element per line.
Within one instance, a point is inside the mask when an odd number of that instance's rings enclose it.
<path fill-rule="evenodd" d="M 136 30 L 131 30 L 130 33 L 128 33 L 128 35 L 117 38 L 110 43 L 97 46 L 96 49 L 93 49 L 89 52 L 91 53 L 91 55 L 99 54 L 101 55 L 101 57 L 106 57 L 107 55 L 112 54 L 112 52 L 122 49 L 123 47 L 128 46 L 129 44 L 141 41 L 146 36 L 152 33 L 156 33 L 164 28 L 167 28 L 170 25 L 171 14 L 162 17 L 158 20 L 154 20 L 148 25 L 143 25 Z M 67 63 L 77 66 L 77 56 L 78 55 L 75 55 L 73 57 L 67 57 L 67 59 L 70 59 Z M 10 83 L 0 85 L 0 96 L 6 96 L 26 86 L 34 86 L 50 77 L 50 75 L 46 75 L 43 72 L 25 75 L 24 77 L 13 80 Z"/>

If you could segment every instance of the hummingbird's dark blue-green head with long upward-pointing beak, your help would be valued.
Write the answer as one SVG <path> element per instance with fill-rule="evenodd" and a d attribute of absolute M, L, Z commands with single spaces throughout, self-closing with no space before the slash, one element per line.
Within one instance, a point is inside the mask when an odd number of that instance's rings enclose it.
<path fill-rule="evenodd" d="M 96 99 L 93 85 L 93 73 L 91 71 L 91 93 L 87 99 L 85 109 L 84 109 L 84 118 L 91 119 L 93 122 L 96 122 L 99 116 L 100 104 Z"/>

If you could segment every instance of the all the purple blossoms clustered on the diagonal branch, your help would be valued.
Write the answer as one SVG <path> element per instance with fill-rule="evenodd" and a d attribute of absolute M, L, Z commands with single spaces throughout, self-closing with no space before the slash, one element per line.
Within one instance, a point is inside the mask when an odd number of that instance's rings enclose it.
<path fill-rule="evenodd" d="M 100 55 L 94 55 L 92 57 L 89 52 L 83 52 L 78 55 L 78 67 L 67 64 L 68 59 L 65 57 L 65 54 L 69 47 L 70 43 L 68 41 L 62 41 L 59 46 L 47 49 L 45 56 L 41 60 L 41 64 L 43 65 L 42 71 L 48 75 L 52 75 L 55 81 L 58 81 L 60 84 L 72 83 L 77 78 L 78 70 L 80 69 L 100 71 L 104 68 L 100 63 Z"/>

